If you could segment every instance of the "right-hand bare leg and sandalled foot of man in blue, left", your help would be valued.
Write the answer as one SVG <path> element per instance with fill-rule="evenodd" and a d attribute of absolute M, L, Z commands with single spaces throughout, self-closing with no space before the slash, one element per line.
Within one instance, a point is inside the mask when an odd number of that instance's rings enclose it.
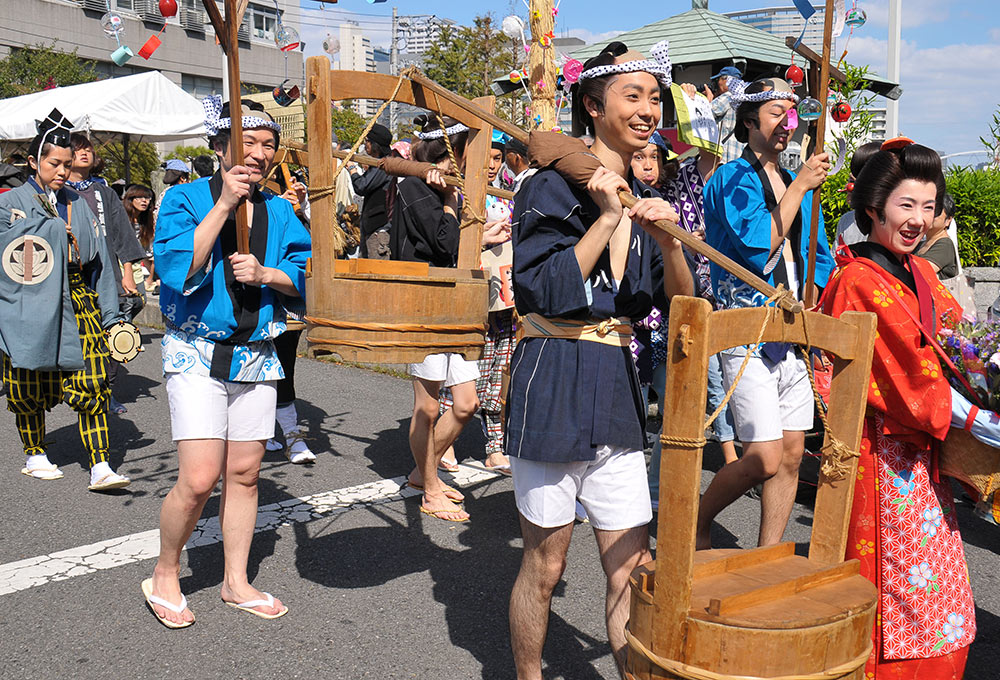
<path fill-rule="evenodd" d="M 219 524 L 222 526 L 222 552 L 225 555 L 221 594 L 227 602 L 265 599 L 264 594 L 251 586 L 247 579 L 250 543 L 257 524 L 257 477 L 264 458 L 265 441 L 231 441 L 226 445 Z M 274 606 L 262 605 L 255 609 L 264 614 L 278 614 L 284 606 L 275 598 Z"/>

